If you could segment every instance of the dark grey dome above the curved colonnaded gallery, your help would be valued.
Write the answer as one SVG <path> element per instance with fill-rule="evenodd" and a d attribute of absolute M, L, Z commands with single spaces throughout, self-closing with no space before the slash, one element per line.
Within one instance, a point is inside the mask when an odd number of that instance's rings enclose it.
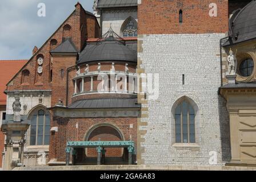
<path fill-rule="evenodd" d="M 137 63 L 137 53 L 118 40 L 105 40 L 81 52 L 78 64 L 90 61 L 127 61 Z"/>

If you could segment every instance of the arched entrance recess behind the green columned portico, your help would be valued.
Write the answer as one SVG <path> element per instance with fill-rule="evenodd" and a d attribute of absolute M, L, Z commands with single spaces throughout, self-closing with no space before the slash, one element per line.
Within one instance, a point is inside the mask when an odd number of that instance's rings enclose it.
<path fill-rule="evenodd" d="M 124 141 L 123 134 L 121 131 L 110 124 L 101 124 L 92 127 L 85 136 L 86 142 L 97 142 L 97 141 L 113 141 L 121 142 Z M 76 164 L 97 164 L 97 148 L 78 148 L 77 149 L 77 162 Z M 105 147 L 102 148 L 101 156 L 102 164 L 127 164 L 128 163 L 128 150 L 122 147 Z"/>

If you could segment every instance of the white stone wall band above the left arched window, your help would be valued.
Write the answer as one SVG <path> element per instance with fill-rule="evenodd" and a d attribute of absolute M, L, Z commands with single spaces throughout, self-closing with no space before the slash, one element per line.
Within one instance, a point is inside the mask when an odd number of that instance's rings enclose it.
<path fill-rule="evenodd" d="M 39 97 L 41 93 L 38 92 L 27 92 L 24 94 L 20 94 L 20 102 L 21 102 L 21 114 L 26 115 L 29 113 L 33 107 L 42 104 L 46 107 L 51 106 L 51 95 L 50 94 L 42 94 L 42 103 L 39 103 Z M 6 114 L 13 114 L 13 102 L 14 94 L 7 94 L 7 104 L 6 104 Z M 27 109 L 24 110 L 24 105 L 27 105 Z"/>

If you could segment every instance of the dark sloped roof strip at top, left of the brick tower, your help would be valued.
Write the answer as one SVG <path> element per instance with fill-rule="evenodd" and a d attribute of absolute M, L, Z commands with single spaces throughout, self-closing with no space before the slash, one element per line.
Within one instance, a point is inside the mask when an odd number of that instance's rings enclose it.
<path fill-rule="evenodd" d="M 138 0 L 99 0 L 97 8 L 138 6 Z"/>

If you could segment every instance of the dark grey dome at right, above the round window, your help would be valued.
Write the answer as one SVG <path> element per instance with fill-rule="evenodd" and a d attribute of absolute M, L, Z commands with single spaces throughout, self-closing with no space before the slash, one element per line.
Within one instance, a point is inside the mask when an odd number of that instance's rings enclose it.
<path fill-rule="evenodd" d="M 229 35 L 232 38 L 224 46 L 256 38 L 256 1 L 251 1 L 230 18 Z"/>

